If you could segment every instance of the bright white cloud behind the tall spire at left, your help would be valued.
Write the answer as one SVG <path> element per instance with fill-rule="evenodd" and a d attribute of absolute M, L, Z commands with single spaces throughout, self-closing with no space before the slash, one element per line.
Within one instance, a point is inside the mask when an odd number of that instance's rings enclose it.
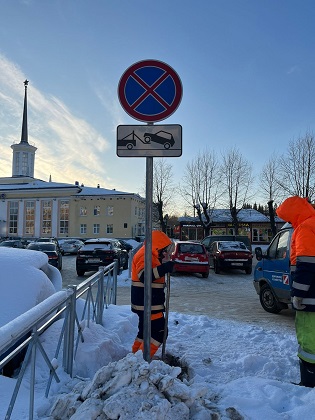
<path fill-rule="evenodd" d="M 11 176 L 10 146 L 21 137 L 25 79 L 22 70 L 0 54 L 0 176 Z M 35 177 L 48 180 L 51 174 L 54 181 L 107 183 L 104 154 L 110 148 L 108 140 L 73 115 L 60 99 L 44 95 L 33 83 L 28 86 L 28 135 L 29 143 L 38 149 Z"/>

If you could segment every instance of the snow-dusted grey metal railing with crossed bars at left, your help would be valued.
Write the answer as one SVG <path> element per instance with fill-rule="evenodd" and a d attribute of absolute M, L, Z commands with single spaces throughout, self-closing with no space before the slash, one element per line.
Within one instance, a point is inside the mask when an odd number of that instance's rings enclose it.
<path fill-rule="evenodd" d="M 12 359 L 26 350 L 26 354 L 19 370 L 16 385 L 8 405 L 5 420 L 11 418 L 16 398 L 26 371 L 30 363 L 30 396 L 29 419 L 34 416 L 34 387 L 35 365 L 37 350 L 42 354 L 48 368 L 48 380 L 45 396 L 48 397 L 52 380 L 60 382 L 56 373 L 58 357 L 66 373 L 73 376 L 73 362 L 80 340 L 84 341 L 83 324 L 87 321 L 97 324 L 103 323 L 103 311 L 110 304 L 116 304 L 117 296 L 117 260 L 107 267 L 100 267 L 99 271 L 84 280 L 78 286 L 69 286 L 45 299 L 34 308 L 12 320 L 0 328 L 0 372 Z M 107 276 L 106 282 L 104 281 Z M 77 300 L 84 298 L 81 319 L 77 314 Z M 49 360 L 40 342 L 40 335 L 56 320 L 63 319 L 54 358 Z"/>

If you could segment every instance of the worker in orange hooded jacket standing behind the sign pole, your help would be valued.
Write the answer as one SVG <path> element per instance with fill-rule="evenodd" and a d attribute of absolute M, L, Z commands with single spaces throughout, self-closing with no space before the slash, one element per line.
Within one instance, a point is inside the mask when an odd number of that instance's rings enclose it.
<path fill-rule="evenodd" d="M 150 357 L 156 353 L 163 342 L 165 319 L 165 274 L 171 273 L 174 263 L 167 261 L 172 241 L 163 232 L 152 232 L 152 300 L 151 300 L 151 340 Z M 143 351 L 144 317 L 144 256 L 145 244 L 134 255 L 131 266 L 131 310 L 139 317 L 138 334 L 132 351 Z"/>

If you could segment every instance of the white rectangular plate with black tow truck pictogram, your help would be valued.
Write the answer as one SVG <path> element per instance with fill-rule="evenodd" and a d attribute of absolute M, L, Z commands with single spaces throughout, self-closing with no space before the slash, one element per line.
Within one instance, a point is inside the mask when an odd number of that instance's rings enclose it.
<path fill-rule="evenodd" d="M 182 126 L 119 125 L 117 156 L 179 157 L 182 155 Z"/>

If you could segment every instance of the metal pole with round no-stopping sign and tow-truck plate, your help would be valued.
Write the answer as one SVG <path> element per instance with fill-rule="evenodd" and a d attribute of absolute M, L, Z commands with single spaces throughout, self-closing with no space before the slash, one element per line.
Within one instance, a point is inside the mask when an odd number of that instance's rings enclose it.
<path fill-rule="evenodd" d="M 182 127 L 153 128 L 153 124 L 176 111 L 182 93 L 182 83 L 175 70 L 157 60 L 134 63 L 118 84 L 118 98 L 124 110 L 136 120 L 147 123 L 146 126 L 117 128 L 117 156 L 146 157 L 143 357 L 147 362 L 151 361 L 153 157 L 182 154 Z"/>

